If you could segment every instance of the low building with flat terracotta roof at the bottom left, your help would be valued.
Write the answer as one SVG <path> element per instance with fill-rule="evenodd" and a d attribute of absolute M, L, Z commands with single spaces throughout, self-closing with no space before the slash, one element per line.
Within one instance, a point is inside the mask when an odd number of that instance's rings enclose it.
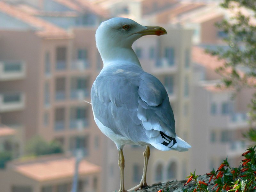
<path fill-rule="evenodd" d="M 75 170 L 74 157 L 44 156 L 16 160 L 0 175 L 1 190 L 10 192 L 69 192 Z M 101 191 L 100 167 L 82 160 L 79 163 L 79 192 Z"/>

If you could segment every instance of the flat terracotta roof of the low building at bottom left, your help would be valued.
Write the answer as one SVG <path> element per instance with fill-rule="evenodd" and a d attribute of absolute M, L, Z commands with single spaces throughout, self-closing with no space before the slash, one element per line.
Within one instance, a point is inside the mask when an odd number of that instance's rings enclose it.
<path fill-rule="evenodd" d="M 72 178 L 75 170 L 75 157 L 39 158 L 38 161 L 14 164 L 13 169 L 20 174 L 37 181 Z M 100 166 L 82 160 L 79 164 L 79 175 L 99 173 Z"/>

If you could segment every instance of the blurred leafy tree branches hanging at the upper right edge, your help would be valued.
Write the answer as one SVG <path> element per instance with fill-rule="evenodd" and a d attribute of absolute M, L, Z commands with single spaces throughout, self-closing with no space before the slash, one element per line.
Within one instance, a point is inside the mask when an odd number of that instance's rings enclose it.
<path fill-rule="evenodd" d="M 220 4 L 223 8 L 235 13 L 229 20 L 222 20 L 216 24 L 226 33 L 223 39 L 228 49 L 217 51 L 207 50 L 212 55 L 217 55 L 225 60 L 225 64 L 217 68 L 217 72 L 223 76 L 226 87 L 234 87 L 237 91 L 244 87 L 256 88 L 256 1 L 255 0 L 223 0 Z M 243 71 L 243 72 L 241 72 Z M 251 125 L 256 123 L 256 93 L 253 94 L 250 108 Z M 252 129 L 245 134 L 249 139 L 256 141 L 249 134 L 256 135 Z"/>

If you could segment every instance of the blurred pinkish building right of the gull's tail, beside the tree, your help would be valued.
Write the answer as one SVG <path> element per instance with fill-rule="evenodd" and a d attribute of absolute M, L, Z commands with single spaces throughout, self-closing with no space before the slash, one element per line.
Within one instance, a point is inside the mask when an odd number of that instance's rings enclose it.
<path fill-rule="evenodd" d="M 216 87 L 220 75 L 215 68 L 224 61 L 200 47 L 195 46 L 192 50 L 197 78 L 194 78 L 192 97 L 192 108 L 196 112 L 192 116 L 191 164 L 197 174 L 216 170 L 226 157 L 231 167 L 236 167 L 248 147 L 242 135 L 249 128 L 246 114 L 253 90 L 243 89 L 234 97 L 234 89 Z"/>

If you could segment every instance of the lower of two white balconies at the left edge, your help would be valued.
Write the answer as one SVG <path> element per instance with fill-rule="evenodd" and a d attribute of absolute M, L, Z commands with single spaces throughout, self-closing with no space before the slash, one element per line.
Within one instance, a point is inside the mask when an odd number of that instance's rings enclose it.
<path fill-rule="evenodd" d="M 25 108 L 25 94 L 0 93 L 0 112 L 19 111 Z"/>

